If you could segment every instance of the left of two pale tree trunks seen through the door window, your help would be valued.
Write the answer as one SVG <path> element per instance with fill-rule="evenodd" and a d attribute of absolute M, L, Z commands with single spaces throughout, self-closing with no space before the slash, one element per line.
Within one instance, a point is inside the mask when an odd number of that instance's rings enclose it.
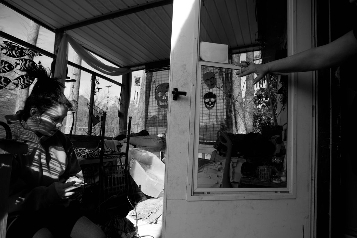
<path fill-rule="evenodd" d="M 232 64 L 240 62 L 240 54 L 233 55 Z M 232 79 L 232 100 L 233 100 L 233 115 L 235 118 L 235 129 L 237 133 L 246 133 L 244 102 L 242 95 L 242 79 L 236 75 L 236 70 L 233 70 Z"/>

